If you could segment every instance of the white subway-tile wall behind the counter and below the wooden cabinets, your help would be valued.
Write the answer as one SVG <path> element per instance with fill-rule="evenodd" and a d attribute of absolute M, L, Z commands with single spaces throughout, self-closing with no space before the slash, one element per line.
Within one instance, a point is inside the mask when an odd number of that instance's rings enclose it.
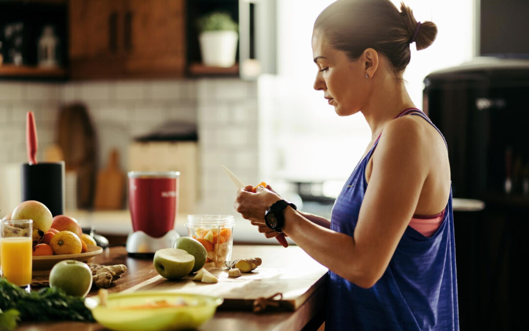
<path fill-rule="evenodd" d="M 172 120 L 197 123 L 197 212 L 234 213 L 236 190 L 220 164 L 231 168 L 245 182 L 258 182 L 257 87 L 256 83 L 235 78 L 65 84 L 0 82 L 0 165 L 13 169 L 26 162 L 25 115 L 30 110 L 37 121 L 37 157 L 42 160 L 44 148 L 54 140 L 60 106 L 72 101 L 83 101 L 88 106 L 99 141 L 99 165 L 103 166 L 108 151 L 117 147 L 124 171 L 129 170 L 127 147 L 133 137 Z M 6 185 L 4 182 L 2 190 Z M 12 192 L 17 185 L 20 184 L 14 178 Z M 0 209 L 14 208 L 16 196 L 20 192 L 0 194 L 0 204 L 2 199 L 7 204 Z"/>

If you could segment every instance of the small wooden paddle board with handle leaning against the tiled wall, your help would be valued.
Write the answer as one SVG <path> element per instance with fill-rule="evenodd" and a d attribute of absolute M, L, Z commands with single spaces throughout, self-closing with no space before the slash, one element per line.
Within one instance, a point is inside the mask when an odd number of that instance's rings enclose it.
<path fill-rule="evenodd" d="M 108 155 L 105 169 L 97 174 L 94 209 L 115 210 L 123 208 L 125 176 L 119 168 L 119 152 L 113 149 Z"/>

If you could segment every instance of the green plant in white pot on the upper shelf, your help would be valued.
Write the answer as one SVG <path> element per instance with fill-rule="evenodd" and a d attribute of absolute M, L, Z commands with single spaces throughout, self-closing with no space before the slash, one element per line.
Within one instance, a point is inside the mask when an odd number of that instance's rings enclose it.
<path fill-rule="evenodd" d="M 238 25 L 230 14 L 212 12 L 197 21 L 200 54 L 206 66 L 231 67 L 237 52 Z"/>

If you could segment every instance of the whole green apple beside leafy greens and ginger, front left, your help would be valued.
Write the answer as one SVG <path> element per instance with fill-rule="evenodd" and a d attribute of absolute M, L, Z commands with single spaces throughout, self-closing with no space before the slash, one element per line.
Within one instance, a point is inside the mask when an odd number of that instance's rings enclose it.
<path fill-rule="evenodd" d="M 92 288 L 92 271 L 83 262 L 61 261 L 51 269 L 50 287 L 60 288 L 69 296 L 84 298 Z"/>

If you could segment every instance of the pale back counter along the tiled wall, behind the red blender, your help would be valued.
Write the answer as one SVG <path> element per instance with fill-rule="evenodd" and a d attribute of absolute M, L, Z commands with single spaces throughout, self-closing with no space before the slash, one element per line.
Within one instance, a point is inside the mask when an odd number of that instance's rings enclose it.
<path fill-rule="evenodd" d="M 86 211 L 86 210 L 67 210 L 65 215 L 75 218 L 81 227 L 90 228 L 103 236 L 122 237 L 123 242 L 126 236 L 132 231 L 132 221 L 129 210 L 111 210 L 111 211 Z M 243 219 L 235 211 L 232 213 L 235 217 L 235 226 L 233 229 L 233 240 L 240 244 L 264 244 L 275 245 L 278 242 L 275 239 L 267 239 L 263 234 L 257 231 L 257 227 L 250 224 L 250 221 Z M 187 236 L 185 226 L 187 214 L 178 214 L 175 222 L 175 230 L 180 236 Z M 287 238 L 291 245 L 294 241 Z M 279 244 L 278 244 L 279 245 Z"/>

